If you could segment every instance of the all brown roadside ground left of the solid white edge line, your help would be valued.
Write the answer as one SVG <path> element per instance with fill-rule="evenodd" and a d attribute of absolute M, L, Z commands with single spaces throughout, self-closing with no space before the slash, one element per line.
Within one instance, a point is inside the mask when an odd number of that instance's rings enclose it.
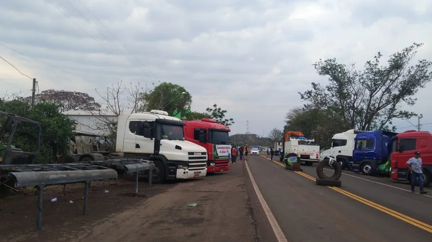
<path fill-rule="evenodd" d="M 239 162 L 226 173 L 199 180 L 154 184 L 151 189 L 141 182 L 141 197 L 131 196 L 132 177 L 94 182 L 85 216 L 83 185 L 68 188 L 66 195 L 61 187 L 49 189 L 40 235 L 35 232 L 34 196 L 9 197 L 0 200 L 0 234 L 9 242 L 259 241 L 245 181 L 245 166 Z M 58 201 L 50 202 L 53 197 Z"/>

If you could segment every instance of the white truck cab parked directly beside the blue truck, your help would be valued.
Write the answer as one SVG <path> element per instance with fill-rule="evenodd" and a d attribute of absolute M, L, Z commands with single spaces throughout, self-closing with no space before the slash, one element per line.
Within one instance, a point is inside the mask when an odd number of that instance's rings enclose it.
<path fill-rule="evenodd" d="M 352 166 L 352 151 L 354 150 L 354 138 L 360 131 L 350 129 L 343 133 L 335 134 L 332 137 L 332 147 L 329 150 L 322 151 L 319 155 L 319 160 L 324 160 L 330 156 L 334 157 L 342 169 L 350 168 Z"/>

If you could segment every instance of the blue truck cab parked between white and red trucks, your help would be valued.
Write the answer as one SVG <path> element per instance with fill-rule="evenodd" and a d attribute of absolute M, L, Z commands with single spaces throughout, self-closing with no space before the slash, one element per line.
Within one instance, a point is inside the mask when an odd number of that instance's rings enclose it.
<path fill-rule="evenodd" d="M 389 170 L 392 137 L 396 135 L 383 130 L 358 134 L 354 138 L 352 171 L 371 176 Z"/>

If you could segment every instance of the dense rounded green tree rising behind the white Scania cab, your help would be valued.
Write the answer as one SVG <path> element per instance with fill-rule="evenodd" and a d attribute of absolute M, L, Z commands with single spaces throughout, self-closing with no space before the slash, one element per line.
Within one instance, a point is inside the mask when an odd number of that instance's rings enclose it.
<path fill-rule="evenodd" d="M 164 110 L 169 115 L 176 109 L 187 110 L 192 104 L 191 94 L 182 86 L 170 82 L 162 82 L 153 90 L 142 92 L 140 97 L 146 101 L 146 104 L 141 106 L 143 110 Z"/>

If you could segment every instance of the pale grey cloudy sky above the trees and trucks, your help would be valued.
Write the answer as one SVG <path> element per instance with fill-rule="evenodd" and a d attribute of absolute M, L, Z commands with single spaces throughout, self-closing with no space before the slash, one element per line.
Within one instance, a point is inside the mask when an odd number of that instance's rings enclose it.
<path fill-rule="evenodd" d="M 173 82 L 196 111 L 228 109 L 233 133 L 249 121 L 266 136 L 302 105 L 297 92 L 326 82 L 318 59 L 361 67 L 413 42 L 425 44 L 418 58 L 432 59 L 431 30 L 431 0 L 1 0 L 0 54 L 40 90 L 97 97 L 119 80 Z M 0 82 L 0 95 L 31 94 L 32 81 L 2 60 Z M 417 93 L 422 123 L 432 123 L 431 91 Z"/>

